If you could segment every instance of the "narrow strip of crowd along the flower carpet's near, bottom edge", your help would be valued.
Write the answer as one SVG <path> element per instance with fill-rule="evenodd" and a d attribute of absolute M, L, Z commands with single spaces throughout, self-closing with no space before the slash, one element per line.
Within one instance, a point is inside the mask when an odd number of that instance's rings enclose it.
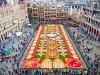
<path fill-rule="evenodd" d="M 88 75 L 87 71 L 82 70 L 69 70 L 69 69 L 41 69 L 41 70 L 33 70 L 33 74 L 31 71 L 28 71 L 27 74 L 31 75 Z M 24 74 L 26 72 L 24 71 Z"/>

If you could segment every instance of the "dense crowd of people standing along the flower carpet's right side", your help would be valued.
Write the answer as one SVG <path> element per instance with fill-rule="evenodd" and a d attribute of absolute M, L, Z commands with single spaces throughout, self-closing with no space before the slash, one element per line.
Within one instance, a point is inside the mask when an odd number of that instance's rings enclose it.
<path fill-rule="evenodd" d="M 73 28 L 71 26 L 67 27 L 67 30 L 70 28 Z M 75 28 L 77 31 L 79 31 L 79 27 Z M 87 44 L 94 44 L 92 41 L 89 41 L 88 39 L 90 38 L 89 36 L 85 35 L 83 32 L 80 32 L 81 34 L 77 34 L 77 31 L 75 30 L 69 30 L 69 33 L 72 37 L 72 39 L 75 41 L 77 47 L 79 47 L 79 51 L 82 53 L 84 60 L 86 60 L 86 63 L 88 64 L 89 69 L 87 70 L 88 75 L 96 75 L 98 74 L 96 70 L 100 69 L 100 54 L 99 53 L 94 53 L 94 58 L 88 55 L 90 51 L 93 51 L 94 48 L 92 47 L 91 49 L 88 48 Z M 84 41 L 87 41 L 87 46 L 84 45 Z M 96 42 L 96 41 L 95 41 Z M 81 54 L 80 53 L 80 54 Z M 91 53 L 90 53 L 91 54 Z"/>

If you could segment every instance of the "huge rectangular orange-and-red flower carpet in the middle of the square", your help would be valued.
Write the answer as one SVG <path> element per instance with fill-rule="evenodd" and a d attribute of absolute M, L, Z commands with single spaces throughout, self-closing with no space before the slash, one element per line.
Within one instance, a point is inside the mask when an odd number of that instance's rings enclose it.
<path fill-rule="evenodd" d="M 21 68 L 84 68 L 61 24 L 41 24 Z"/>

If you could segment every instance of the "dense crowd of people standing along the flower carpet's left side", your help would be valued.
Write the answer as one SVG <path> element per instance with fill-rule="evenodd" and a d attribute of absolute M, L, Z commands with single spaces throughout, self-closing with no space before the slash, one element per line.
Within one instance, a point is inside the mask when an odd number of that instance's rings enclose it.
<path fill-rule="evenodd" d="M 9 46 L 9 49 L 12 53 L 9 57 L 6 58 L 3 53 L 6 46 L 0 49 L 2 57 L 2 60 L 0 61 L 0 75 L 15 75 L 15 72 L 17 72 L 17 69 L 19 68 L 19 61 L 32 37 L 33 30 L 32 27 L 23 27 L 23 29 L 21 29 L 23 35 L 17 36 L 16 34 L 13 34 L 15 40 L 12 41 L 11 39 L 10 41 L 12 42 L 12 45 Z"/>

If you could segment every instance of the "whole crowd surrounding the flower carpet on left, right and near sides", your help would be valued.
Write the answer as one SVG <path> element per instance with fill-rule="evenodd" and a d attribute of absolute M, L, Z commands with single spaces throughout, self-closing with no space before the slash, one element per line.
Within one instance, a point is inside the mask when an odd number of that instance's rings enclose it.
<path fill-rule="evenodd" d="M 63 22 L 65 23 L 65 22 Z M 66 25 L 66 23 L 65 23 Z M 3 58 L 4 55 L 1 54 L 3 60 L 0 62 L 0 75 L 96 75 L 96 69 L 100 68 L 100 55 L 95 54 L 95 59 L 92 60 L 91 57 L 87 55 L 86 52 L 88 49 L 84 48 L 84 50 L 81 50 L 84 58 L 89 63 L 89 68 L 86 70 L 70 70 L 70 69 L 33 69 L 33 70 L 22 70 L 19 68 L 19 60 L 21 59 L 24 50 L 26 46 L 28 45 L 29 40 L 31 39 L 30 36 L 32 36 L 34 29 L 32 27 L 26 27 L 22 29 L 23 35 L 21 37 L 17 37 L 17 45 L 16 42 L 13 41 L 10 50 L 13 53 L 16 53 L 11 58 Z M 75 32 L 73 33 L 70 30 L 71 34 L 74 38 L 74 40 L 77 42 L 77 40 L 81 39 L 82 41 L 85 40 L 85 37 L 80 35 L 74 36 Z M 90 42 L 91 43 L 91 42 Z M 82 42 L 77 43 L 78 47 L 83 47 Z M 0 50 L 2 53 L 3 49 Z M 2 64 L 4 64 L 3 67 Z M 7 72 L 7 73 L 6 73 Z"/>

